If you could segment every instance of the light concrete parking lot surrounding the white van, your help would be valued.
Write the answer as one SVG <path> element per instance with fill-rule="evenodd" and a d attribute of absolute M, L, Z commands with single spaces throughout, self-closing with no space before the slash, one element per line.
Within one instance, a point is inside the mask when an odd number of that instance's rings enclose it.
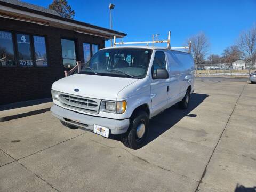
<path fill-rule="evenodd" d="M 147 145 L 63 127 L 50 112 L 0 123 L 0 191 L 235 191 L 256 186 L 256 85 L 196 78 L 188 110 L 150 121 Z"/>

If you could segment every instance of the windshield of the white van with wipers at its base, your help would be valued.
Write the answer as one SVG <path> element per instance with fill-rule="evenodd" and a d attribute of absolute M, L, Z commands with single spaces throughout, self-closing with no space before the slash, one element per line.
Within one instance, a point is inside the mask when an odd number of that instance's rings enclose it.
<path fill-rule="evenodd" d="M 117 48 L 100 50 L 83 66 L 81 73 L 124 78 L 144 78 L 152 50 Z"/>

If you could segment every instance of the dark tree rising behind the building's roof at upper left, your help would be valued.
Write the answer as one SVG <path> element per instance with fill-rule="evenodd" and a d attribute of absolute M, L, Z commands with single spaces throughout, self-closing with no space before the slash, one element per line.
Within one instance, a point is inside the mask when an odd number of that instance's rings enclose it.
<path fill-rule="evenodd" d="M 53 0 L 52 4 L 49 5 L 49 9 L 55 10 L 64 18 L 73 19 L 75 16 L 75 11 L 71 10 L 71 6 L 68 5 L 66 0 Z"/>

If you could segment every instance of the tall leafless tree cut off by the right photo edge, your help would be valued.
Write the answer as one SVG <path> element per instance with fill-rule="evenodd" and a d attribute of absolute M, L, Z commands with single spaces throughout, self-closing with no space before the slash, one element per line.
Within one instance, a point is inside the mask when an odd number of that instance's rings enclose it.
<path fill-rule="evenodd" d="M 242 59 L 249 63 L 250 74 L 252 62 L 256 58 L 256 25 L 239 35 L 237 46 L 241 51 Z"/>

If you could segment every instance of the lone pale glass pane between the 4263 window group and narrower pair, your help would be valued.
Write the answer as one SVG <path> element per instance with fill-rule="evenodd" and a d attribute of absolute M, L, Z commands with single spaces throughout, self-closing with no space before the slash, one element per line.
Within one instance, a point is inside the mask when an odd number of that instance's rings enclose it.
<path fill-rule="evenodd" d="M 65 68 L 73 68 L 76 65 L 75 42 L 61 39 L 62 59 Z"/>

